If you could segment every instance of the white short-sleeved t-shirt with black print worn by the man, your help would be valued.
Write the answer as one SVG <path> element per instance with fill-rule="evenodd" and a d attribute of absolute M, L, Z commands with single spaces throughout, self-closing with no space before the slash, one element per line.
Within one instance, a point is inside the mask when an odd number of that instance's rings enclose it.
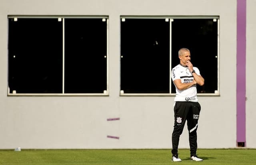
<path fill-rule="evenodd" d="M 193 69 L 195 70 L 197 75 L 200 75 L 200 71 L 197 67 L 193 67 Z M 190 83 L 194 80 L 194 77 L 193 77 L 192 73 L 190 73 L 188 68 L 183 67 L 180 64 L 172 69 L 171 77 L 172 77 L 172 81 L 174 81 L 176 79 L 180 79 L 181 83 Z M 175 88 L 176 88 L 176 96 L 174 98 L 175 102 L 176 101 L 198 102 L 198 99 L 196 96 L 196 94 L 197 94 L 196 84 L 194 84 L 193 86 L 190 86 L 190 88 L 184 89 L 184 90 L 178 90 L 178 88 L 176 86 L 175 86 Z"/>

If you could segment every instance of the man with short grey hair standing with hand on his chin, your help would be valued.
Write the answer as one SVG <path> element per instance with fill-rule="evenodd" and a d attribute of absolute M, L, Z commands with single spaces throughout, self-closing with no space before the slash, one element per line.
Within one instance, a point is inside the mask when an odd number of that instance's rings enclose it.
<path fill-rule="evenodd" d="M 185 122 L 189 131 L 190 157 L 193 161 L 202 161 L 196 155 L 199 113 L 196 84 L 204 85 L 204 78 L 198 68 L 190 62 L 190 51 L 181 48 L 178 51 L 180 64 L 172 69 L 171 77 L 176 88 L 174 98 L 174 129 L 172 132 L 172 161 L 181 161 L 178 157 L 178 144 Z"/>

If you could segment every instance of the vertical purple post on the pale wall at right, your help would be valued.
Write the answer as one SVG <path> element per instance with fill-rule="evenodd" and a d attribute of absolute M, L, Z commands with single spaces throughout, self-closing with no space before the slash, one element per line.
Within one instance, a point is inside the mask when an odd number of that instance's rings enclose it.
<path fill-rule="evenodd" d="M 237 0 L 236 19 L 236 142 L 246 147 L 246 0 Z"/>

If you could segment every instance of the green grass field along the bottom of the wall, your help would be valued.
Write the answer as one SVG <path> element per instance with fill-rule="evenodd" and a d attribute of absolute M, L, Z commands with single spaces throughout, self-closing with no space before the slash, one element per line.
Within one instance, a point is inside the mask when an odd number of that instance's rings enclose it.
<path fill-rule="evenodd" d="M 169 149 L 0 150 L 0 165 L 256 165 L 256 149 L 198 149 L 200 162 L 189 156 L 189 149 L 179 149 L 182 162 L 172 162 Z"/>

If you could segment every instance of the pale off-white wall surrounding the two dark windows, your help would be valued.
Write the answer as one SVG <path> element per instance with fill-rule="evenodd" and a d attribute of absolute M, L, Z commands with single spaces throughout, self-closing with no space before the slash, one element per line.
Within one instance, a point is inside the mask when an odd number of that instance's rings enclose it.
<path fill-rule="evenodd" d="M 8 15 L 109 16 L 110 96 L 7 96 Z M 0 149 L 171 148 L 174 97 L 119 96 L 121 15 L 220 16 L 220 96 L 199 96 L 198 147 L 236 147 L 236 0 L 0 0 Z M 248 31 L 255 59 L 256 31 Z M 246 106 L 255 116 L 252 101 Z M 249 124 L 247 138 L 255 139 Z M 252 139 L 248 147 L 256 147 Z M 185 127 L 180 148 L 188 147 Z"/>

